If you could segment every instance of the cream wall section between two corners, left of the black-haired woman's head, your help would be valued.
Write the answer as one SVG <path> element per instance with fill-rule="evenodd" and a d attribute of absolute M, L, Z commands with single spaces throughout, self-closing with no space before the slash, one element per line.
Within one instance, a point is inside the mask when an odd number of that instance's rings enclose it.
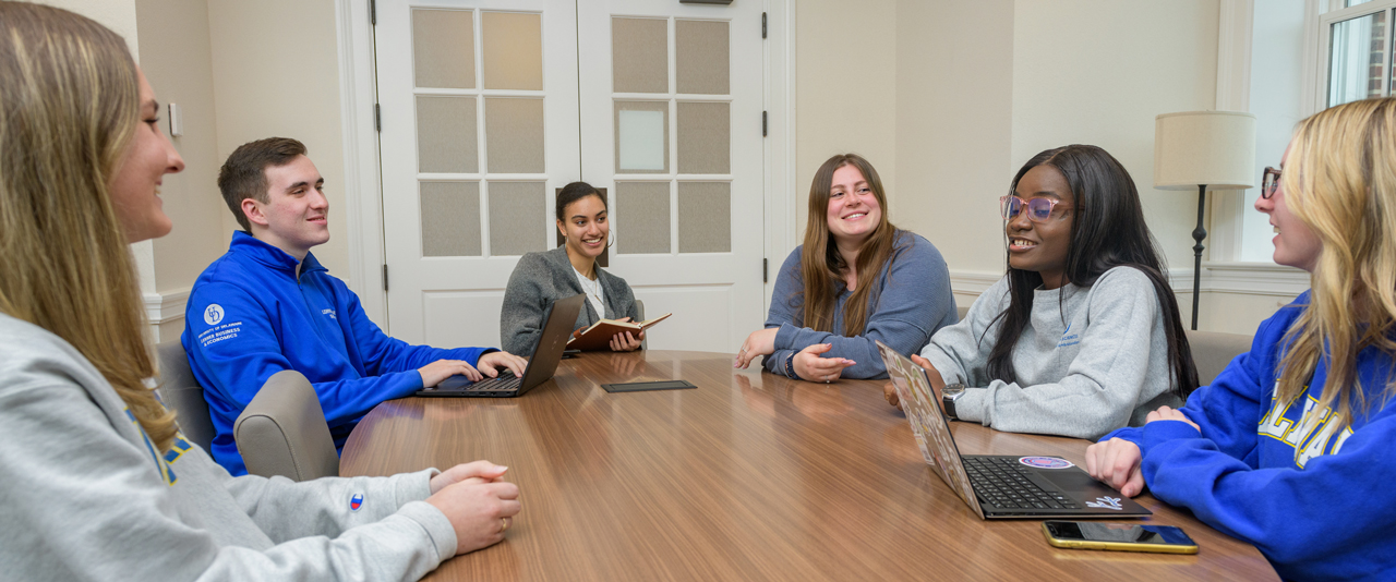
<path fill-rule="evenodd" d="M 1005 265 L 998 197 L 1013 167 L 1013 3 L 902 1 L 896 21 L 892 218 L 931 240 L 953 274 L 997 279 Z M 956 303 L 976 296 L 956 293 Z"/>

